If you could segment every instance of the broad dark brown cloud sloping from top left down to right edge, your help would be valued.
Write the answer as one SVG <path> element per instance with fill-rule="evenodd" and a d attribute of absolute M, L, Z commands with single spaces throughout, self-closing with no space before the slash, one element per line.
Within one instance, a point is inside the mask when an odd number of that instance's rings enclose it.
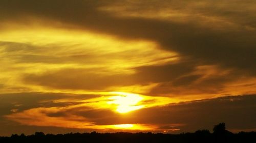
<path fill-rule="evenodd" d="M 72 3 L 69 1 L 61 1 L 61 5 L 59 5 L 59 1 L 53 1 L 51 3 L 48 1 L 26 1 L 23 3 L 19 1 L 3 1 L 2 11 L 3 13 L 12 11 L 14 14 L 23 13 L 25 15 L 36 15 L 50 19 L 54 18 L 62 22 L 79 25 L 88 30 L 108 33 L 121 38 L 156 41 L 166 50 L 176 51 L 181 55 L 199 60 L 201 63 L 219 64 L 225 68 L 238 68 L 255 75 L 255 68 L 253 66 L 253 61 L 255 61 L 254 55 L 256 54 L 254 48 L 254 30 L 248 31 L 243 27 L 238 27 L 237 30 L 230 31 L 229 27 L 225 27 L 226 30 L 224 31 L 215 31 L 195 25 L 194 21 L 177 23 L 141 17 L 116 17 L 111 15 L 112 13 L 105 13 L 104 11 L 98 10 L 99 7 L 112 3 L 113 2 L 102 1 L 76 1 Z M 140 4 L 141 3 L 139 3 L 139 6 L 141 6 Z M 238 19 L 238 14 L 246 14 L 238 11 L 238 8 L 233 10 L 235 14 L 229 14 L 225 9 L 221 9 L 222 12 L 218 12 L 217 10 L 212 11 L 211 9 L 199 9 L 204 6 L 209 6 L 209 4 L 210 2 L 203 2 L 200 6 L 193 2 L 186 2 L 182 4 L 178 3 L 178 8 L 176 8 L 176 5 L 174 8 L 181 12 L 186 12 L 187 9 L 182 9 L 179 6 L 187 5 L 193 8 L 193 11 L 201 15 L 220 15 L 227 19 Z M 218 8 L 220 8 L 221 4 L 217 4 Z M 228 6 L 226 3 L 224 4 L 228 9 L 235 7 L 234 5 Z M 249 6 L 254 3 L 242 4 L 247 6 L 245 10 L 250 11 Z M 162 5 L 159 7 L 161 6 Z M 145 9 L 145 11 L 146 10 L 147 9 Z M 246 21 L 250 21 L 250 15 L 252 17 L 254 16 L 252 13 L 250 13 L 249 16 L 246 14 Z"/>

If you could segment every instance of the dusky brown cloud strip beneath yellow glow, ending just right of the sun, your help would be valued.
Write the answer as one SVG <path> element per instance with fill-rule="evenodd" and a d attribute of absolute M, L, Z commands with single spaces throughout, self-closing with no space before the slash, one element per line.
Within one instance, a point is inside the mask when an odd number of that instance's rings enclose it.
<path fill-rule="evenodd" d="M 100 70 L 100 69 L 98 69 Z M 143 66 L 134 69 L 135 74 L 106 75 L 94 69 L 62 69 L 42 74 L 28 74 L 24 81 L 57 89 L 104 90 L 113 86 L 149 84 L 170 81 L 194 70 L 189 63 L 162 66 Z"/>

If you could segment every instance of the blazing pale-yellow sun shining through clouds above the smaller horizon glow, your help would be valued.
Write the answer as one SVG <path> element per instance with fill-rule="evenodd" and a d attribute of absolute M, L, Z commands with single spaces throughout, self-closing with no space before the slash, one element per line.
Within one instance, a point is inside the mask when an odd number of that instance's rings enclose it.
<path fill-rule="evenodd" d="M 138 94 L 124 93 L 124 92 L 112 92 L 118 94 L 118 96 L 112 96 L 108 101 L 108 104 L 115 104 L 116 111 L 119 113 L 127 113 L 133 110 L 138 110 L 144 107 L 144 105 L 138 105 L 143 100 L 143 97 Z"/>

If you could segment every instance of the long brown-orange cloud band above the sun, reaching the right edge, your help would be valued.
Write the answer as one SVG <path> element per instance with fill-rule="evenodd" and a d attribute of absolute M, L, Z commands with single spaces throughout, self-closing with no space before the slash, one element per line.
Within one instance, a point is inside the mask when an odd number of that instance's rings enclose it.
<path fill-rule="evenodd" d="M 95 73 L 100 71 L 101 73 Z M 51 89 L 111 91 L 133 85 L 148 86 L 140 91 L 150 96 L 203 99 L 222 95 L 253 94 L 254 78 L 241 76 L 241 72 L 223 70 L 218 66 L 197 66 L 181 62 L 160 66 L 136 67 L 132 74 L 111 74 L 103 69 L 61 69 L 42 74 L 24 75 L 26 84 Z M 222 72 L 219 72 L 222 71 Z M 73 74 L 70 74 L 73 73 Z M 233 87 L 236 87 L 234 90 Z M 245 92 L 247 90 L 247 92 Z"/>

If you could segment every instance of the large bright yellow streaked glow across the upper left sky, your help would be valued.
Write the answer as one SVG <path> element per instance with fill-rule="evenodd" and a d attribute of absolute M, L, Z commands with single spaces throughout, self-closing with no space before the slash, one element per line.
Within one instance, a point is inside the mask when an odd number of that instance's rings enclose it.
<path fill-rule="evenodd" d="M 5 81 L 6 87 L 12 88 L 0 89 L 3 93 L 15 93 L 14 85 L 15 88 L 19 88 L 17 92 L 56 92 L 56 89 L 24 84 L 20 79 L 24 74 L 40 74 L 48 70 L 67 68 L 95 68 L 94 74 L 99 76 L 133 74 L 134 67 L 178 60 L 174 57 L 176 53 L 160 50 L 152 41 L 124 41 L 109 35 L 42 25 L 7 28 L 0 32 L 0 39 L 24 44 L 20 47 L 21 50 L 18 47 L 11 47 L 13 50 L 10 51 L 6 45 L 0 45 L 0 56 L 3 59 L 0 61 L 0 81 Z M 48 59 L 50 57 L 53 59 Z M 140 91 L 138 88 L 144 89 L 137 86 L 136 91 Z M 123 91 L 127 91 L 127 88 Z"/>

